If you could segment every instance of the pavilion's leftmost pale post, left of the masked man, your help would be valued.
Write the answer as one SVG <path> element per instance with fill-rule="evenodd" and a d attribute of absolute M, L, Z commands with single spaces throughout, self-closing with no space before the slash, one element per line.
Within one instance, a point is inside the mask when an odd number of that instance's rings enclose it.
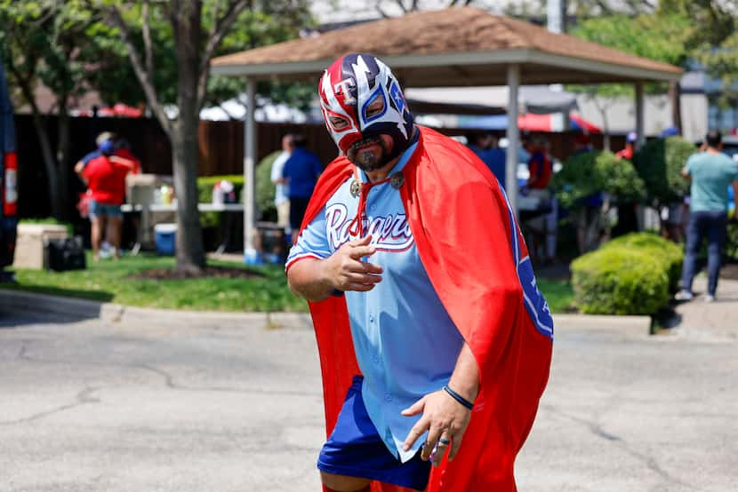
<path fill-rule="evenodd" d="M 253 114 L 256 107 L 254 91 L 256 82 L 246 79 L 246 115 L 244 121 L 244 261 L 247 264 L 260 263 L 259 251 L 254 248 L 254 167 L 256 165 L 256 121 Z"/>

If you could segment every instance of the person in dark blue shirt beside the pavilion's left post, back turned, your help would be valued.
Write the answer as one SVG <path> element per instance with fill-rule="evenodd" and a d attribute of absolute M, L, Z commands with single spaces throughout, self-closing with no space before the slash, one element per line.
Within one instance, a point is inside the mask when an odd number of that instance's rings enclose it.
<path fill-rule="evenodd" d="M 323 172 L 323 165 L 317 155 L 305 148 L 305 137 L 294 135 L 293 145 L 294 150 L 285 162 L 282 178 L 285 179 L 287 197 L 290 200 L 290 228 L 296 234 L 300 230 L 305 210 L 308 209 L 317 177 Z"/>

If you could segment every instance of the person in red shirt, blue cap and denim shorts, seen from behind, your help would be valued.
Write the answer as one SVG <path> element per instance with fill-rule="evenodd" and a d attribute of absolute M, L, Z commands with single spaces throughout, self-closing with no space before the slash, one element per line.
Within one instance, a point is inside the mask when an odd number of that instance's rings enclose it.
<path fill-rule="evenodd" d="M 100 155 L 86 165 L 77 163 L 75 171 L 87 185 L 90 197 L 90 223 L 92 225 L 92 254 L 100 260 L 100 243 L 107 226 L 108 242 L 113 245 L 113 258 L 119 258 L 125 198 L 125 176 L 133 171 L 135 162 L 113 155 L 111 140 L 100 143 Z"/>

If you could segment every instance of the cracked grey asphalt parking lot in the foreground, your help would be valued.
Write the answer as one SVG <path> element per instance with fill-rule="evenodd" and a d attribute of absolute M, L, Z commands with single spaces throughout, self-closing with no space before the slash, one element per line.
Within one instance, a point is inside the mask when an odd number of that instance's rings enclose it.
<path fill-rule="evenodd" d="M 734 490 L 738 344 L 561 329 L 521 491 Z M 313 334 L 0 313 L 0 490 L 312 491 Z"/>

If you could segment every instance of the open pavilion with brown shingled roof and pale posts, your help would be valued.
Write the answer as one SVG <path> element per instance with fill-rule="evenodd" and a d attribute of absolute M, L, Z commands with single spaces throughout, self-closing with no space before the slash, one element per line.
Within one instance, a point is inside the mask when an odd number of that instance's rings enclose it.
<path fill-rule="evenodd" d="M 257 80 L 313 81 L 325 67 L 350 52 L 380 56 L 404 87 L 507 85 L 509 147 L 519 143 L 518 89 L 521 83 L 634 83 L 638 138 L 643 139 L 643 83 L 678 81 L 681 69 L 619 52 L 573 36 L 551 33 L 521 20 L 472 7 L 415 12 L 237 52 L 212 61 L 216 75 L 246 79 L 253 100 Z M 246 117 L 245 252 L 253 250 L 253 115 Z M 517 159 L 508 153 L 506 184 L 513 209 Z"/>

